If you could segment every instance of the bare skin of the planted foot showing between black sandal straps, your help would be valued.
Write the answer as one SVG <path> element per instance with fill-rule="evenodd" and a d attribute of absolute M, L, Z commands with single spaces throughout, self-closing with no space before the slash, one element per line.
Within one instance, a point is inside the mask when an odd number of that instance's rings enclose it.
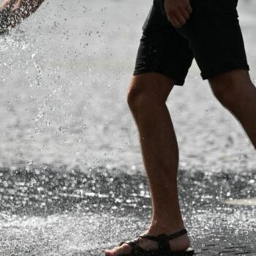
<path fill-rule="evenodd" d="M 183 228 L 179 229 L 182 230 Z M 166 234 L 171 234 L 171 233 L 176 233 L 179 230 L 176 231 L 172 231 L 172 232 L 165 232 L 165 231 L 160 231 L 157 230 L 154 227 L 150 227 L 145 233 L 143 234 L 151 234 L 154 236 L 157 236 L 161 233 L 166 233 Z M 151 241 L 148 240 L 146 238 L 138 238 L 139 239 L 139 246 L 142 249 L 146 249 L 146 250 L 151 250 L 151 249 L 157 249 L 157 242 L 156 241 Z M 172 239 L 170 240 L 170 248 L 173 251 L 186 251 L 190 246 L 190 241 L 189 241 L 189 237 L 187 236 L 187 234 L 180 236 L 178 238 Z M 131 247 L 129 246 L 129 244 L 122 244 L 121 246 L 116 246 L 113 249 L 106 249 L 105 250 L 105 256 L 118 256 L 118 255 L 128 255 L 129 252 L 131 251 Z"/>

